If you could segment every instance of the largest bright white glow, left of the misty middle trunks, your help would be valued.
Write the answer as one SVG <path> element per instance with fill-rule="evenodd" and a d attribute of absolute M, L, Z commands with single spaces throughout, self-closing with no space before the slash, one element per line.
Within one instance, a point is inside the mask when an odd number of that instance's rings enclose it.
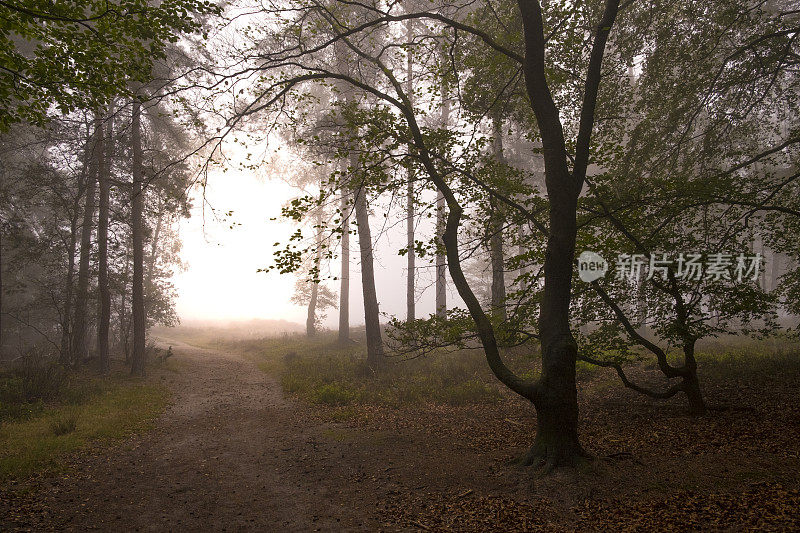
<path fill-rule="evenodd" d="M 241 171 L 209 178 L 205 214 L 202 195 L 195 193 L 192 218 L 181 225 L 181 257 L 188 268 L 175 278 L 181 318 L 305 319 L 305 310 L 289 301 L 293 277 L 257 272 L 270 263 L 272 244 L 293 229 L 269 219 L 295 195 L 283 182 Z M 232 216 L 226 216 L 229 211 Z"/>

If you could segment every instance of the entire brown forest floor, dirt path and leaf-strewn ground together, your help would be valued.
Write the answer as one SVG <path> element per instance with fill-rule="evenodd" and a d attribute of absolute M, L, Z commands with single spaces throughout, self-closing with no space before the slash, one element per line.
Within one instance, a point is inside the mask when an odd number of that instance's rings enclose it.
<path fill-rule="evenodd" d="M 249 358 L 173 339 L 156 429 L 0 489 L 0 530 L 572 531 L 800 529 L 800 408 L 789 372 L 711 379 L 724 409 L 648 402 L 593 374 L 595 460 L 541 477 L 512 459 L 532 410 L 311 405 Z"/>

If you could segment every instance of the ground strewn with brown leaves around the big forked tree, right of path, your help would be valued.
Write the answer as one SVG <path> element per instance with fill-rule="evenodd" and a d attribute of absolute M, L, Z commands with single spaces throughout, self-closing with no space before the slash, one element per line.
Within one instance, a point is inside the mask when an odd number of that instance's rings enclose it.
<path fill-rule="evenodd" d="M 653 369 L 640 380 L 657 385 Z M 705 364 L 711 409 L 646 399 L 604 370 L 580 382 L 581 438 L 594 459 L 549 476 L 514 460 L 533 410 L 499 404 L 327 408 L 340 439 L 388 457 L 402 484 L 381 502 L 386 524 L 438 531 L 800 529 L 800 404 L 792 356 Z M 381 435 L 379 447 L 371 446 Z M 388 475 L 393 472 L 392 475 Z M 381 474 L 373 474 L 381 479 Z"/>

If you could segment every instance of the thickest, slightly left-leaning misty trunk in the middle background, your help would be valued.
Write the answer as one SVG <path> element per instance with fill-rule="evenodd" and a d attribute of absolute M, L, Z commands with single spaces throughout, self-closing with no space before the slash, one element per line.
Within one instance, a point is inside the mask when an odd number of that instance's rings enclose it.
<path fill-rule="evenodd" d="M 351 156 L 355 168 L 358 159 Z M 364 295 L 364 322 L 367 333 L 367 364 L 373 370 L 383 366 L 383 339 L 381 338 L 378 296 L 375 291 L 375 270 L 372 258 L 372 234 L 369 229 L 369 208 L 364 187 L 356 190 L 355 210 L 358 225 L 358 245 L 361 251 L 361 288 Z"/>

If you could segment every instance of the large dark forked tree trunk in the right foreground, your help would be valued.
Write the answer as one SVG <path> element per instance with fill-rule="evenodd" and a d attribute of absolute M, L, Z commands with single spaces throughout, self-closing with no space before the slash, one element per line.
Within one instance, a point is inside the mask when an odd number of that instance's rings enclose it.
<path fill-rule="evenodd" d="M 606 0 L 596 27 L 584 87 L 580 125 L 572 171 L 559 110 L 545 75 L 544 24 L 539 2 L 519 0 L 525 40 L 525 88 L 542 137 L 545 187 L 550 204 L 549 235 L 544 260 L 544 291 L 539 311 L 542 372 L 532 399 L 537 433 L 528 464 L 547 468 L 569 464 L 586 455 L 578 441 L 578 400 L 575 387 L 577 345 L 569 323 L 572 271 L 577 236 L 577 205 L 589 163 L 597 92 L 603 54 L 616 20 L 619 0 Z"/>

